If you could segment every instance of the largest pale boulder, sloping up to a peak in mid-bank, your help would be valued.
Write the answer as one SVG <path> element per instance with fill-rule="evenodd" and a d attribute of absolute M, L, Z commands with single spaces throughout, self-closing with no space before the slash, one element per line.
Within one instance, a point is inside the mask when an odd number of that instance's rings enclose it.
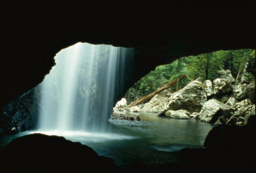
<path fill-rule="evenodd" d="M 165 116 L 168 110 L 176 111 L 182 109 L 190 113 L 200 112 L 207 98 L 204 93 L 203 83 L 198 80 L 188 83 L 183 89 L 173 93 L 158 116 Z"/>

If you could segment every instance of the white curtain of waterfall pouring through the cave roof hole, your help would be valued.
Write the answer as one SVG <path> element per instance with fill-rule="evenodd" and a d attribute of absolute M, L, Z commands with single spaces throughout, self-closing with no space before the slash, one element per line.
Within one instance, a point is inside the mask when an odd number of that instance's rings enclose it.
<path fill-rule="evenodd" d="M 38 86 L 38 128 L 108 130 L 107 120 L 132 56 L 132 48 L 89 43 L 61 50 L 55 56 L 56 66 Z"/>

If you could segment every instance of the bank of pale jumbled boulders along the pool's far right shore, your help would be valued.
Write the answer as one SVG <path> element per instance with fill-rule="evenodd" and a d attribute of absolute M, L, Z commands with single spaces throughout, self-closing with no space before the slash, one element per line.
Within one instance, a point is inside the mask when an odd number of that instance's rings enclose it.
<path fill-rule="evenodd" d="M 197 78 L 178 92 L 165 90 L 149 102 L 131 108 L 126 107 L 127 102 L 122 98 L 113 110 L 154 112 L 170 118 L 241 126 L 246 115 L 255 114 L 255 81 L 249 81 L 246 73 L 246 64 L 236 79 L 230 70 L 220 70 L 213 81 L 203 83 Z"/>

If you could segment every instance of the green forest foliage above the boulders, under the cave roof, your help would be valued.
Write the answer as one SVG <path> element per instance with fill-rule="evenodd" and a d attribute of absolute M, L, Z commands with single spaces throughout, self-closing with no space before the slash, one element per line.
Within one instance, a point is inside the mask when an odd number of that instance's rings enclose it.
<path fill-rule="evenodd" d="M 180 88 L 183 88 L 188 82 L 198 77 L 205 81 L 207 74 L 208 79 L 213 81 L 216 79 L 220 67 L 224 70 L 230 70 L 234 78 L 236 78 L 239 71 L 243 71 L 246 60 L 248 61 L 249 72 L 247 77 L 253 81 L 255 80 L 255 50 L 216 51 L 184 57 L 181 59 L 180 75 L 188 73 L 188 78 L 180 81 Z M 156 67 L 154 71 L 151 71 L 138 81 L 140 83 L 138 93 L 141 96 L 145 96 L 157 90 L 162 83 L 165 82 L 164 84 L 166 84 L 174 80 L 178 75 L 177 68 L 178 60 L 171 64 Z M 176 84 L 170 90 L 176 91 Z"/>

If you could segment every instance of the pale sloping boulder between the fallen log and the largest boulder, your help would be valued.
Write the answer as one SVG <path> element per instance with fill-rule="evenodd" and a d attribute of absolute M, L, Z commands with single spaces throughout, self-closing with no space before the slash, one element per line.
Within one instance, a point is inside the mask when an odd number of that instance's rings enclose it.
<path fill-rule="evenodd" d="M 140 111 L 159 113 L 164 108 L 164 105 L 171 95 L 172 93 L 170 91 L 163 91 L 160 94 L 156 94 L 148 103 L 145 103 L 144 106 L 140 108 Z"/>

